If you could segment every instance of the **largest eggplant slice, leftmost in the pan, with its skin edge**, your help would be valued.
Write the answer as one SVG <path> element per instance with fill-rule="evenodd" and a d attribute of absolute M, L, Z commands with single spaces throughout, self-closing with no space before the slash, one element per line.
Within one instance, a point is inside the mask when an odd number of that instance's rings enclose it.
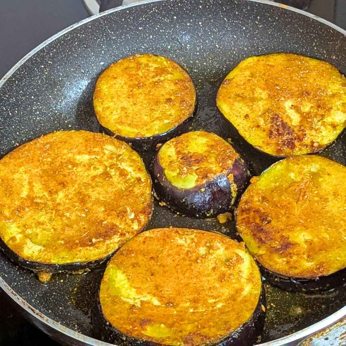
<path fill-rule="evenodd" d="M 0 246 L 36 272 L 100 264 L 144 228 L 152 208 L 142 159 L 107 135 L 54 132 L 0 160 Z"/>

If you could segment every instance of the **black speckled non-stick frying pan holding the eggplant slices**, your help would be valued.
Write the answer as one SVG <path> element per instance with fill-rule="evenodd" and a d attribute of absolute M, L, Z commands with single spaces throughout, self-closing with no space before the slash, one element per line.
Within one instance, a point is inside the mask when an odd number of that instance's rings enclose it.
<path fill-rule="evenodd" d="M 97 76 L 113 61 L 151 52 L 182 65 L 198 90 L 203 128 L 231 138 L 260 174 L 273 158 L 220 125 L 218 86 L 249 55 L 291 52 L 324 59 L 346 72 L 346 32 L 323 19 L 265 0 L 148 0 L 85 19 L 48 39 L 0 82 L 0 155 L 54 130 L 100 131 L 92 111 Z M 345 131 L 320 155 L 346 165 Z M 153 152 L 143 155 L 149 162 Z M 147 229 L 190 227 L 235 238 L 234 222 L 176 216 L 155 205 Z M 85 275 L 53 275 L 43 284 L 0 254 L 0 286 L 37 327 L 66 345 L 108 345 L 92 338 L 90 309 L 104 267 Z M 262 343 L 298 345 L 346 315 L 346 290 L 303 294 L 265 284 L 268 311 Z M 329 345 L 329 343 L 328 343 Z"/>

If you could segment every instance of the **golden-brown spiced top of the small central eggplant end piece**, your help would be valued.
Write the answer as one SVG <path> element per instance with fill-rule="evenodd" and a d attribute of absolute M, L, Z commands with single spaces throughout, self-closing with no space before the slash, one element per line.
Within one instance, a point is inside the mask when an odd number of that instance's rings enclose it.
<path fill-rule="evenodd" d="M 239 155 L 221 137 L 206 131 L 182 134 L 166 142 L 158 160 L 167 179 L 177 188 L 192 188 L 211 181 L 218 174 L 228 175 Z M 233 177 L 229 177 L 234 184 Z"/>

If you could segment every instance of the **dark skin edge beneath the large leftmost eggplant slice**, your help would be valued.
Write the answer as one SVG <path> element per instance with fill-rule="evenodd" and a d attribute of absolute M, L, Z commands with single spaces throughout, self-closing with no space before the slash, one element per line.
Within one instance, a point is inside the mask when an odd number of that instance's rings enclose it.
<path fill-rule="evenodd" d="M 25 258 L 20 257 L 14 251 L 12 251 L 6 243 L 0 238 L 0 249 L 7 257 L 15 264 L 21 267 L 30 269 L 35 273 L 73 273 L 79 271 L 89 271 L 94 268 L 99 267 L 102 263 L 109 260 L 109 258 L 114 254 L 109 254 L 106 257 L 100 258 L 96 261 L 91 262 L 75 262 L 75 263 L 64 263 L 64 264 L 50 264 L 50 263 L 39 263 L 34 261 L 28 261 Z"/>

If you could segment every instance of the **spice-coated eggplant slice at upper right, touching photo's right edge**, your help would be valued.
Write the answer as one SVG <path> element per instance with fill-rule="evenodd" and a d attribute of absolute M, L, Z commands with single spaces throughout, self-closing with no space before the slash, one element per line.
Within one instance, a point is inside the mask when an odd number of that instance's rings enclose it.
<path fill-rule="evenodd" d="M 306 56 L 252 56 L 226 76 L 217 106 L 247 142 L 265 153 L 313 153 L 346 125 L 346 79 L 333 65 Z"/>

